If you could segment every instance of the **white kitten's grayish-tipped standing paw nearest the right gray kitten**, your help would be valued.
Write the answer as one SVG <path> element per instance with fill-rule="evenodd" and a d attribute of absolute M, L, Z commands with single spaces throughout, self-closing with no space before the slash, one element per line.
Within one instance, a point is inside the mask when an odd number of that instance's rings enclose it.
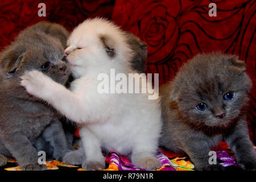
<path fill-rule="evenodd" d="M 161 167 L 159 160 L 154 156 L 142 156 L 141 158 L 133 159 L 133 164 L 143 169 L 158 169 Z"/>

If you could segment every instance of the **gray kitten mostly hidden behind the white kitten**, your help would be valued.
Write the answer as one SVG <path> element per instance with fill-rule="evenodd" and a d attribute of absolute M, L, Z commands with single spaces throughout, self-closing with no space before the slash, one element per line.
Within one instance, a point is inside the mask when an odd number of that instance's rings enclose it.
<path fill-rule="evenodd" d="M 147 44 L 130 32 L 126 32 L 126 36 L 129 46 L 134 51 L 131 68 L 133 68 L 135 72 L 144 73 L 147 63 Z M 80 165 L 84 163 L 84 160 L 85 154 L 81 141 L 79 141 L 79 149 L 68 152 L 63 158 L 64 163 L 73 165 Z"/>

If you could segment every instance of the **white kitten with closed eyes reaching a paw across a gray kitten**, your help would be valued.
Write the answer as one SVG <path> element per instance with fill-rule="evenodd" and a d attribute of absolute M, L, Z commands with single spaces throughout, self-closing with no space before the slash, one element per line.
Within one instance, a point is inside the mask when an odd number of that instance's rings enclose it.
<path fill-rule="evenodd" d="M 85 169 L 105 168 L 101 147 L 122 155 L 131 153 L 136 166 L 159 167 L 154 156 L 161 129 L 159 100 L 148 100 L 148 94 L 97 92 L 100 73 L 110 76 L 110 68 L 115 68 L 115 74 L 133 72 L 133 52 L 126 41 L 125 34 L 113 23 L 98 18 L 85 20 L 72 32 L 65 50 L 76 79 L 71 90 L 37 71 L 22 77 L 28 93 L 80 123 Z"/>

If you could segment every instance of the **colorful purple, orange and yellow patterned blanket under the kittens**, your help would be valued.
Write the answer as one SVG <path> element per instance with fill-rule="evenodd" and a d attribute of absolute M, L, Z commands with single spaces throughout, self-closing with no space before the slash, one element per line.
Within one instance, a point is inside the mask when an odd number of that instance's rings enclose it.
<path fill-rule="evenodd" d="M 256 152 L 256 147 L 254 147 Z M 217 154 L 218 162 L 225 168 L 239 170 L 240 167 L 236 164 L 236 157 L 233 152 L 227 146 L 225 142 L 220 143 L 220 145 L 214 148 Z M 145 169 L 138 168 L 131 164 L 127 156 L 121 156 L 115 151 L 111 151 L 109 155 L 106 155 L 106 169 L 104 171 L 145 171 Z M 156 171 L 193 171 L 194 165 L 189 160 L 188 156 L 183 156 L 180 154 L 174 154 L 173 152 L 163 150 L 159 148 L 158 155 L 161 167 L 156 169 Z M 84 171 L 81 166 L 73 166 L 58 162 L 53 160 L 51 162 L 46 162 L 48 169 L 51 170 L 72 170 L 72 171 Z M 0 168 L 6 171 L 20 171 L 15 160 L 8 160 L 6 166 Z"/>

